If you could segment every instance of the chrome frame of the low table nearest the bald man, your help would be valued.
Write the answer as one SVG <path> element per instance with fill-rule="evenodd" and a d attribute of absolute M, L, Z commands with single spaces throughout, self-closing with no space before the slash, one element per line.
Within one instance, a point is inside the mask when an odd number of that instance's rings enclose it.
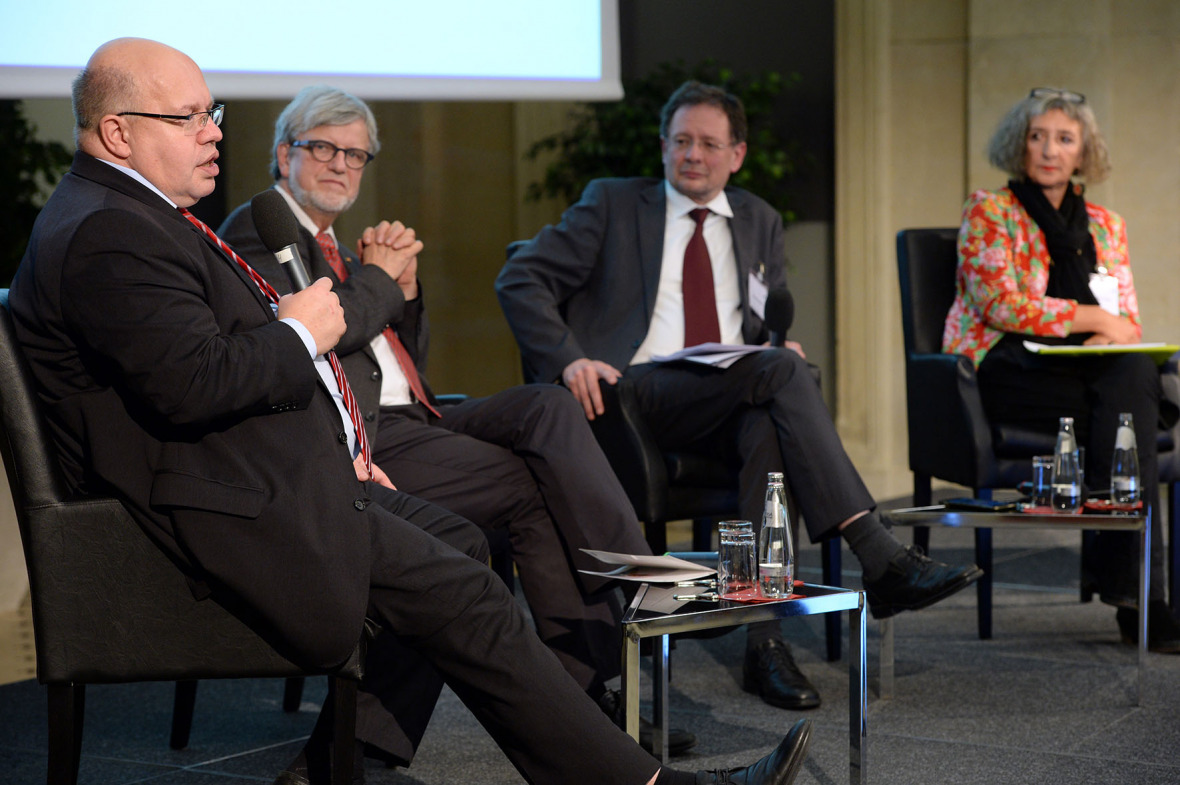
<path fill-rule="evenodd" d="M 837 587 L 804 583 L 795 587 L 799 598 L 759 604 L 736 602 L 680 602 L 670 613 L 653 610 L 670 601 L 674 589 L 642 584 L 623 616 L 622 699 L 625 731 L 640 738 L 640 641 L 656 637 L 651 656 L 653 678 L 653 753 L 668 763 L 668 636 L 721 627 L 738 627 L 789 616 L 848 611 L 848 781 L 864 785 L 867 779 L 867 709 L 865 668 L 865 593 Z"/>

